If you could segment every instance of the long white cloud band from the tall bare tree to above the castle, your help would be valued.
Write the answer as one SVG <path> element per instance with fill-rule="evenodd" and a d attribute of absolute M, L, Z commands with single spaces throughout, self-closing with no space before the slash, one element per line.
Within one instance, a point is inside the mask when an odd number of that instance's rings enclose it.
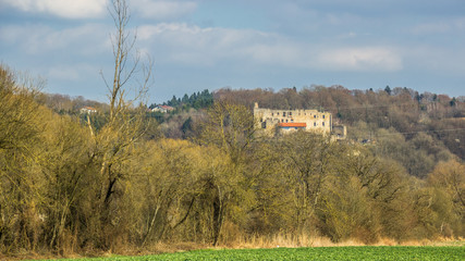
<path fill-rule="evenodd" d="M 142 26 L 144 45 L 155 47 L 167 62 L 211 66 L 237 63 L 329 71 L 402 69 L 402 58 L 387 47 L 318 47 L 277 34 L 252 29 L 200 28 L 187 24 Z M 158 50 L 157 50 L 158 49 Z"/>

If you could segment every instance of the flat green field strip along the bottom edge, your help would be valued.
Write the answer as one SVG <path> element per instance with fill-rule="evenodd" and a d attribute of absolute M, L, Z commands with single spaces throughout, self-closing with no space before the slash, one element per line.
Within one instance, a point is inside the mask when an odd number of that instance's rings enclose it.
<path fill-rule="evenodd" d="M 320 247 L 194 250 L 142 257 L 112 257 L 68 260 L 465 260 L 465 247 Z"/>

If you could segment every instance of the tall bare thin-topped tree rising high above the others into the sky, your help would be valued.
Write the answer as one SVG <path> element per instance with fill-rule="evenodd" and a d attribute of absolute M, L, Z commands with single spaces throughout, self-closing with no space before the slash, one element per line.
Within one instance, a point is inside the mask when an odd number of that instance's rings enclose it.
<path fill-rule="evenodd" d="M 146 64 L 142 62 L 135 48 L 136 33 L 129 27 L 127 1 L 112 0 L 108 9 L 115 27 L 110 36 L 113 46 L 112 80 L 108 80 L 102 72 L 100 74 L 108 89 L 110 111 L 106 125 L 98 132 L 93 132 L 88 121 L 95 140 L 94 153 L 100 167 L 96 178 L 100 188 L 96 191 L 95 204 L 100 209 L 101 228 L 106 231 L 108 226 L 121 226 L 119 202 L 114 196 L 124 192 L 127 183 L 122 181 L 129 179 L 127 164 L 135 157 L 135 145 L 144 134 L 145 107 L 142 104 L 151 84 L 154 67 L 151 59 Z"/>

